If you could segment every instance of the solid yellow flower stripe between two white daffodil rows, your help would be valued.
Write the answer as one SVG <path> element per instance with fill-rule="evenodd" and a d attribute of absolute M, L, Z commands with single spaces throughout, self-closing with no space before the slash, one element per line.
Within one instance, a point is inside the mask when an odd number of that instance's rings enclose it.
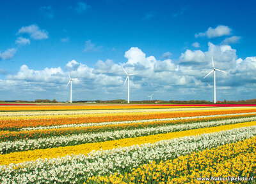
<path fill-rule="evenodd" d="M 204 133 L 219 132 L 230 130 L 239 127 L 250 127 L 256 125 L 256 122 L 245 122 L 241 124 L 222 125 L 218 127 L 204 128 L 204 129 L 193 129 L 189 131 L 171 132 L 168 134 L 156 134 L 151 136 L 143 136 L 138 138 L 126 138 L 120 140 L 106 141 L 101 143 L 86 143 L 83 145 L 76 146 L 65 146 L 58 148 L 47 148 L 44 150 L 29 150 L 27 152 L 15 152 L 0 155 L 0 165 L 15 164 L 24 161 L 36 160 L 38 158 L 56 158 L 63 157 L 65 155 L 78 155 L 80 153 L 86 154 L 92 152 L 92 150 L 110 150 L 116 147 L 141 145 L 144 143 L 156 143 L 164 139 L 180 138 L 184 136 L 195 136 Z"/>

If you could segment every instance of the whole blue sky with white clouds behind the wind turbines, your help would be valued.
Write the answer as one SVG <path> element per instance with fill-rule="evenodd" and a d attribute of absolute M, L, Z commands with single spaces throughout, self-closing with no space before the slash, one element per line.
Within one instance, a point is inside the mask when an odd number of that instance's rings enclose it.
<path fill-rule="evenodd" d="M 255 99 L 256 1 L 1 1 L 0 100 Z"/>

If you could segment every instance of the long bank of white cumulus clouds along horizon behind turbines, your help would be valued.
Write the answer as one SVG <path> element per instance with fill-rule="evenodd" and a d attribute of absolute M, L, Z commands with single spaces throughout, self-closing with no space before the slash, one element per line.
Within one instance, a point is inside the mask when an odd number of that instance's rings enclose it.
<path fill-rule="evenodd" d="M 119 64 L 107 59 L 98 60 L 95 66 L 89 67 L 77 60 L 70 60 L 64 68 L 43 70 L 23 65 L 17 74 L 8 74 L 1 81 L 0 93 L 8 92 L 11 96 L 10 91 L 13 90 L 13 94 L 22 96 L 22 93 L 30 92 L 36 98 L 40 92 L 45 96 L 49 91 L 49 96 L 54 96 L 51 99 L 60 97 L 65 100 L 69 98 L 66 87 L 68 71 L 74 78 L 75 99 L 126 99 L 124 67 L 128 73 L 137 73 L 130 78 L 131 100 L 147 99 L 147 95 L 143 98 L 143 94 L 148 92 L 154 92 L 156 99 L 212 100 L 213 78 L 209 76 L 204 79 L 212 69 L 212 56 L 216 68 L 230 73 L 216 75 L 217 99 L 249 92 L 250 99 L 255 92 L 256 57 L 237 59 L 236 50 L 230 45 L 214 45 L 211 42 L 206 51 L 186 50 L 174 61 L 158 60 L 153 55 L 146 55 L 140 48 L 132 47 L 125 52 L 127 60 Z"/>

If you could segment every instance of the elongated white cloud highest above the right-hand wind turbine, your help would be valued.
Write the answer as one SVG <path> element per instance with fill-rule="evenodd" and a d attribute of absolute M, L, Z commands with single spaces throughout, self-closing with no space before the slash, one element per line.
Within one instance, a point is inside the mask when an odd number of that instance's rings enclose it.
<path fill-rule="evenodd" d="M 231 29 L 226 25 L 218 25 L 216 28 L 209 27 L 205 32 L 199 32 L 195 34 L 195 37 L 207 36 L 207 38 L 215 38 L 220 36 L 227 36 L 231 32 Z"/>

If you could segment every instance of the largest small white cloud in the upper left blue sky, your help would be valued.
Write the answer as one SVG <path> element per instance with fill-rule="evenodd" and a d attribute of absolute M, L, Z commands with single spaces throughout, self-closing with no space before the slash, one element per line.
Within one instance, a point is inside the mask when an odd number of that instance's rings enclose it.
<path fill-rule="evenodd" d="M 48 32 L 45 30 L 40 30 L 36 24 L 21 27 L 19 29 L 19 33 L 29 34 L 29 36 L 33 39 L 47 39 L 49 37 Z"/>

